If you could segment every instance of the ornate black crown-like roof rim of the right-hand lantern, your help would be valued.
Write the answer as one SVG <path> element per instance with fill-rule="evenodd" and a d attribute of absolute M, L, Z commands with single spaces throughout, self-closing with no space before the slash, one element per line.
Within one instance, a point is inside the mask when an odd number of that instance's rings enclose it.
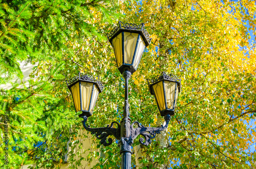
<path fill-rule="evenodd" d="M 152 85 L 154 85 L 154 84 L 156 84 L 160 81 L 163 81 L 163 80 L 176 82 L 177 85 L 178 85 L 179 92 L 180 92 L 180 88 L 181 88 L 180 77 L 177 77 L 177 76 L 172 75 L 172 74 L 168 75 L 164 71 L 162 72 L 161 75 L 157 75 L 152 79 L 147 79 L 147 83 L 148 83 L 148 86 L 150 87 L 150 86 L 152 86 Z M 150 87 L 150 93 L 153 94 L 153 89 L 151 87 Z"/>

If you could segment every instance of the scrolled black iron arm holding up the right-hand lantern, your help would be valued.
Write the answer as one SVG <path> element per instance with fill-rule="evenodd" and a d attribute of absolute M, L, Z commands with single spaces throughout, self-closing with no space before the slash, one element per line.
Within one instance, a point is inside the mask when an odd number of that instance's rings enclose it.
<path fill-rule="evenodd" d="M 168 125 L 169 125 L 169 121 L 170 121 L 170 115 L 166 114 L 164 116 L 165 122 L 166 124 L 162 127 L 144 127 L 143 125 L 140 125 L 139 122 L 134 122 L 131 125 L 131 143 L 133 143 L 133 140 L 138 136 L 138 135 L 142 135 L 145 138 L 140 138 L 139 141 L 141 144 L 143 144 L 144 146 L 148 146 L 148 144 L 150 144 L 152 141 L 151 139 L 156 137 L 156 134 L 160 134 L 160 131 L 165 130 Z M 133 128 L 133 125 L 137 124 L 138 128 Z"/>

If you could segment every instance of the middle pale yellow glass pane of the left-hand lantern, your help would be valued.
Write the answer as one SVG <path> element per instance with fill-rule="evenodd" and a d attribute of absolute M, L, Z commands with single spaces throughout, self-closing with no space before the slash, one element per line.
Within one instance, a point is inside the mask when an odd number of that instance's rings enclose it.
<path fill-rule="evenodd" d="M 92 90 L 93 90 L 93 83 L 81 82 L 82 110 L 89 111 Z"/>

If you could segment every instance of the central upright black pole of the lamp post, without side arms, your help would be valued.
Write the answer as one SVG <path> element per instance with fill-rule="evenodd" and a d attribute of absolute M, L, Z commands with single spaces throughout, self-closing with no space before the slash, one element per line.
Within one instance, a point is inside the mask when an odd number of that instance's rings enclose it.
<path fill-rule="evenodd" d="M 131 140 L 129 139 L 131 136 L 131 119 L 129 113 L 129 79 L 131 77 L 130 71 L 124 71 L 123 77 L 125 79 L 125 95 L 124 95 L 124 110 L 123 110 L 123 118 L 121 120 L 121 144 L 120 144 L 120 153 L 122 156 L 121 168 L 122 169 L 131 169 Z"/>

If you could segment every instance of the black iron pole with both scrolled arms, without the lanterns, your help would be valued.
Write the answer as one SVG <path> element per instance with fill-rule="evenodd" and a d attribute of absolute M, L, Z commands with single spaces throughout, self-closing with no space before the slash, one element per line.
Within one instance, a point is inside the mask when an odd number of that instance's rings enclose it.
<path fill-rule="evenodd" d="M 133 140 L 138 136 L 142 135 L 144 138 L 140 138 L 139 141 L 141 144 L 148 146 L 151 143 L 151 139 L 155 138 L 156 134 L 160 134 L 160 131 L 165 130 L 168 127 L 170 121 L 170 113 L 166 113 L 164 116 L 166 124 L 162 127 L 144 127 L 140 125 L 139 122 L 134 122 L 131 125 L 130 113 L 129 113 L 129 79 L 131 78 L 131 72 L 126 69 L 123 72 L 123 77 L 125 79 L 125 96 L 124 96 L 124 109 L 123 109 L 123 118 L 120 125 L 117 122 L 112 122 L 111 125 L 106 127 L 99 128 L 90 128 L 87 127 L 87 116 L 82 115 L 83 118 L 82 124 L 83 128 L 91 131 L 92 134 L 95 134 L 100 143 L 104 146 L 109 146 L 112 143 L 112 138 L 108 138 L 109 135 L 113 135 L 116 139 L 120 140 L 120 154 L 121 154 L 121 168 L 122 169 L 131 169 L 131 157 L 132 157 L 132 144 Z M 114 128 L 113 125 L 116 124 L 117 128 Z M 137 124 L 137 128 L 133 128 L 133 125 Z"/>

